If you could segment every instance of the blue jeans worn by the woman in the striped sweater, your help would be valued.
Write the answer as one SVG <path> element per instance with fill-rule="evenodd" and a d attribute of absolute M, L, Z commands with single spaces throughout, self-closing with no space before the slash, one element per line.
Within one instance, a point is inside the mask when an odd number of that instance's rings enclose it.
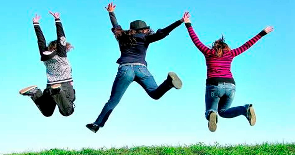
<path fill-rule="evenodd" d="M 207 85 L 205 102 L 206 102 L 206 119 L 209 119 L 209 114 L 215 112 L 224 118 L 233 118 L 240 115 L 247 116 L 247 109 L 250 106 L 246 104 L 244 106 L 236 106 L 230 108 L 235 96 L 235 84 L 232 83 L 218 83 L 218 86 Z"/>

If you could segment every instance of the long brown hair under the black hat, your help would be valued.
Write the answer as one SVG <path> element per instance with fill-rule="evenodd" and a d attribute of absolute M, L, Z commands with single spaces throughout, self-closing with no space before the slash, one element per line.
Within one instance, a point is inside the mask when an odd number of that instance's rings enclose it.
<path fill-rule="evenodd" d="M 127 30 L 124 31 L 121 28 L 116 28 L 114 30 L 114 35 L 119 43 L 120 46 L 131 46 L 136 44 L 135 37 L 133 35 L 139 34 L 139 33 L 145 33 L 147 35 L 154 34 L 154 31 L 152 29 L 147 29 L 148 31 L 145 32 L 146 29 L 141 30 Z"/>

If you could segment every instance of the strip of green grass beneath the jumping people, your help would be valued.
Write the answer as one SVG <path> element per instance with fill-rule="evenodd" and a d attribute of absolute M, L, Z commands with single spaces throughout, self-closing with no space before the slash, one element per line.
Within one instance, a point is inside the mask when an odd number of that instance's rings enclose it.
<path fill-rule="evenodd" d="M 9 155 L 295 155 L 295 143 L 257 145 L 136 146 L 132 148 L 89 149 L 79 151 L 50 149 Z"/>

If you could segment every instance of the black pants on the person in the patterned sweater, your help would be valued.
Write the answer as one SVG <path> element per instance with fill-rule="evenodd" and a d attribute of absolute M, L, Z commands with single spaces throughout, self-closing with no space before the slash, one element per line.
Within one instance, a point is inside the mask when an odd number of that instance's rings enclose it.
<path fill-rule="evenodd" d="M 43 91 L 38 91 L 31 96 L 41 113 L 49 117 L 58 105 L 60 114 L 70 116 L 74 112 L 75 90 L 71 84 L 61 84 L 61 89 L 51 89 L 50 85 Z"/>

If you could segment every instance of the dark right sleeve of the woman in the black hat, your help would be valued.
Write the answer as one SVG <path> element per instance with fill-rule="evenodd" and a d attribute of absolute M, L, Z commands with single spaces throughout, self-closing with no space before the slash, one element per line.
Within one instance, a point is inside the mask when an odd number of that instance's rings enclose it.
<path fill-rule="evenodd" d="M 148 35 L 145 39 L 147 43 L 152 43 L 158 40 L 161 40 L 169 35 L 169 33 L 174 30 L 176 27 L 181 25 L 182 22 L 180 20 L 174 22 L 173 24 L 165 27 L 164 29 L 158 29 L 155 34 Z"/>

